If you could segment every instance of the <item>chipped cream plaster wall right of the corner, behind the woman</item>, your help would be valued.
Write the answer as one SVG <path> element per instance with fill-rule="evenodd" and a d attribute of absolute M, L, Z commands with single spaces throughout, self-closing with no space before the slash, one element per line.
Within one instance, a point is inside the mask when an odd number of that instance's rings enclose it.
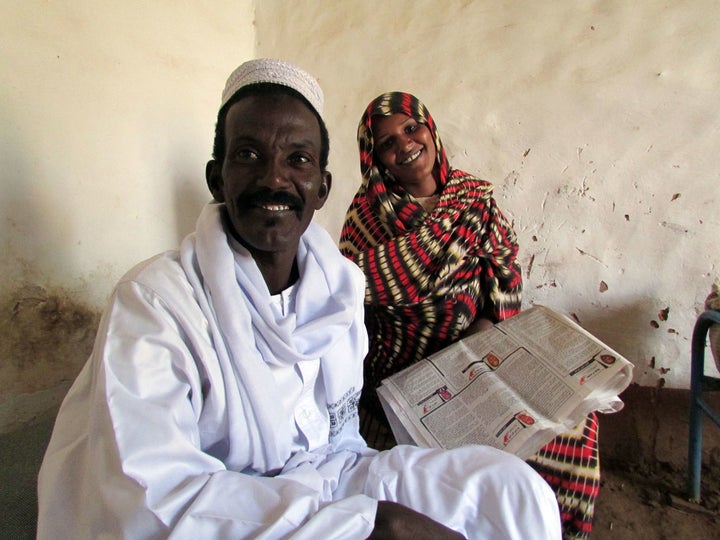
<path fill-rule="evenodd" d="M 415 93 L 451 163 L 495 183 L 524 305 L 576 317 L 643 385 L 688 386 L 720 273 L 720 3 L 263 0 L 256 17 L 257 54 L 325 90 L 334 187 L 317 219 L 335 238 L 362 110 Z"/>

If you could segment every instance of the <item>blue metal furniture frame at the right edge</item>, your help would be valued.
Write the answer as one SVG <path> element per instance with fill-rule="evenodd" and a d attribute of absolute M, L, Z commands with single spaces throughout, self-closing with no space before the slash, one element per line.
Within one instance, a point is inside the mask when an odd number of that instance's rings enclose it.
<path fill-rule="evenodd" d="M 720 379 L 705 375 L 705 344 L 713 324 L 720 324 L 720 311 L 705 311 L 695 322 L 692 336 L 690 367 L 690 437 L 688 441 L 688 497 L 700 500 L 700 469 L 702 466 L 703 413 L 720 427 L 720 417 L 702 399 L 703 390 L 720 389 Z"/>

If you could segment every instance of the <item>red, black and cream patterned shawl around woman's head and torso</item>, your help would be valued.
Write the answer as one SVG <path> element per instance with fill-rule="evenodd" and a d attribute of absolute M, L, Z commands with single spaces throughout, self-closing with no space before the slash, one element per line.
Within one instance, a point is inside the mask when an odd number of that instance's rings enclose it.
<path fill-rule="evenodd" d="M 430 129 L 439 200 L 431 212 L 394 181 L 373 152 L 373 116 L 403 113 Z M 520 311 L 518 245 L 493 186 L 448 163 L 435 122 L 414 96 L 379 96 L 358 127 L 362 185 L 348 209 L 340 249 L 365 272 L 370 352 L 365 386 L 456 341 L 483 313 Z"/>

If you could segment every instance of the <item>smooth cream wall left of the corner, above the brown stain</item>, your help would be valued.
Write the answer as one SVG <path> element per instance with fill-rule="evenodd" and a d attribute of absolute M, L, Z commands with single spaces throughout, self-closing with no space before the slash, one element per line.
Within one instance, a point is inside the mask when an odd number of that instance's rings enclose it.
<path fill-rule="evenodd" d="M 62 286 L 101 307 L 192 230 L 253 19 L 251 0 L 0 0 L 3 291 Z"/>

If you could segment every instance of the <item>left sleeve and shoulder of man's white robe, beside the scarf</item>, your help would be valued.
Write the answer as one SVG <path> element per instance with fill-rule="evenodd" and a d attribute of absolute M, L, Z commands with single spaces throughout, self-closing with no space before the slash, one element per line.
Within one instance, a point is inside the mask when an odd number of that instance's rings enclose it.
<path fill-rule="evenodd" d="M 369 535 L 374 499 L 333 500 L 342 476 L 365 461 L 362 449 L 276 476 L 223 462 L 227 439 L 217 433 L 242 430 L 242 411 L 223 414 L 232 388 L 223 387 L 207 321 L 192 304 L 187 291 L 165 299 L 134 281 L 116 289 L 42 465 L 38 537 Z"/>

